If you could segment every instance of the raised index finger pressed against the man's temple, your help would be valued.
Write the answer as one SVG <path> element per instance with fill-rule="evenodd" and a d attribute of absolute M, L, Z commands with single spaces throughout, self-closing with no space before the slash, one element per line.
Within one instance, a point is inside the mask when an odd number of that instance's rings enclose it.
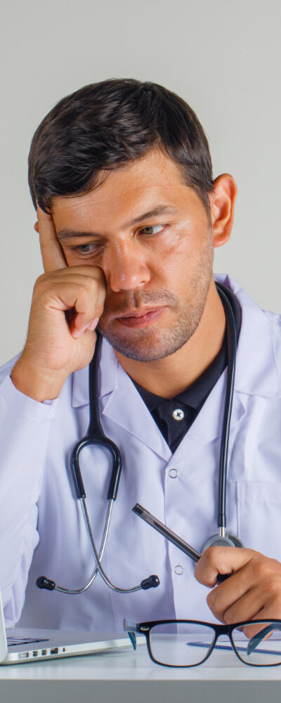
<path fill-rule="evenodd" d="M 52 216 L 46 214 L 37 205 L 37 217 L 38 225 L 36 223 L 34 228 L 39 232 L 44 271 L 47 273 L 48 271 L 55 271 L 55 269 L 64 269 L 67 263 L 56 236 Z"/>

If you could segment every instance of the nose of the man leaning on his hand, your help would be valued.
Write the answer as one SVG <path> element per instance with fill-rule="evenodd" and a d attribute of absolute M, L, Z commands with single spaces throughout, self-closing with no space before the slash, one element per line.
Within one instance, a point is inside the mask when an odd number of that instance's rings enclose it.
<path fill-rule="evenodd" d="M 105 280 L 111 290 L 133 290 L 150 280 L 150 269 L 143 252 L 132 245 L 115 246 L 103 259 Z"/>

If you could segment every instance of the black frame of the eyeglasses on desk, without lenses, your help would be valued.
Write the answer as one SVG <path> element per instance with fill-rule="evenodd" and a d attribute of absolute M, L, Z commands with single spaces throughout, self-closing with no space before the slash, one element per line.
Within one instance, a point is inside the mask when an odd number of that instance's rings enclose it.
<path fill-rule="evenodd" d="M 209 652 L 207 652 L 206 657 L 204 657 L 204 659 L 202 659 L 201 662 L 198 662 L 198 664 L 164 664 L 164 662 L 158 662 L 157 659 L 155 659 L 155 657 L 152 656 L 152 651 L 151 651 L 151 647 L 150 647 L 150 631 L 152 630 L 152 628 L 157 625 L 169 625 L 169 624 L 177 624 L 177 623 L 181 623 L 181 624 L 188 623 L 190 625 L 203 625 L 205 627 L 209 627 L 214 630 L 215 637 L 214 637 L 213 643 L 211 644 Z M 235 648 L 235 644 L 233 642 L 233 636 L 232 636 L 233 630 L 238 629 L 238 628 L 242 628 L 246 625 L 253 625 L 253 624 L 259 625 L 261 623 L 279 624 L 279 628 L 277 628 L 277 629 L 281 631 L 281 619 L 278 619 L 278 618 L 272 618 L 272 619 L 261 618 L 261 619 L 257 619 L 257 620 L 242 620 L 240 622 L 233 622 L 230 625 L 221 625 L 221 624 L 216 624 L 214 622 L 206 622 L 204 620 L 176 620 L 176 619 L 172 619 L 172 620 L 150 620 L 147 622 L 135 623 L 135 622 L 131 622 L 129 620 L 126 620 L 126 618 L 124 618 L 124 621 L 123 621 L 124 631 L 128 633 L 128 636 L 131 640 L 131 644 L 133 646 L 133 650 L 136 650 L 137 639 L 136 639 L 135 633 L 138 632 L 138 633 L 145 636 L 146 645 L 148 648 L 148 654 L 149 654 L 152 662 L 155 662 L 155 664 L 159 664 L 159 666 L 169 666 L 172 669 L 188 669 L 188 668 L 192 668 L 193 666 L 200 666 L 200 664 L 204 664 L 204 662 L 206 662 L 206 660 L 209 659 L 211 652 L 214 650 L 214 647 L 216 646 L 216 642 L 218 640 L 218 637 L 221 635 L 228 635 L 228 639 L 230 640 L 230 644 L 233 648 L 233 652 L 236 654 L 238 659 L 240 659 L 240 662 L 242 662 L 242 664 L 246 664 L 246 666 L 280 666 L 280 664 L 281 664 L 281 651 L 280 651 L 280 662 L 276 662 L 276 664 L 252 664 L 251 662 L 245 662 L 244 659 L 242 659 L 242 657 L 240 657 L 240 654 L 238 654 L 238 652 Z M 266 630 L 267 630 L 267 632 L 265 632 Z M 259 633 L 254 635 L 254 637 L 251 639 L 256 640 L 257 636 L 261 635 L 262 633 L 263 633 L 263 635 L 267 634 L 268 628 L 263 628 L 263 630 L 261 630 Z M 259 640 L 259 641 L 261 641 L 261 640 Z"/>

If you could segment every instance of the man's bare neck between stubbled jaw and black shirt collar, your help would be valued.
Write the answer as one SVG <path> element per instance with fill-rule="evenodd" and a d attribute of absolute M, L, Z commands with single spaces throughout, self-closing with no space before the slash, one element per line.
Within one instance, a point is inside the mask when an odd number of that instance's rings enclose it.
<path fill-rule="evenodd" d="M 157 361 L 134 361 L 115 351 L 119 363 L 141 387 L 162 398 L 174 398 L 210 366 L 223 344 L 226 317 L 214 278 L 195 333 L 174 354 Z"/>

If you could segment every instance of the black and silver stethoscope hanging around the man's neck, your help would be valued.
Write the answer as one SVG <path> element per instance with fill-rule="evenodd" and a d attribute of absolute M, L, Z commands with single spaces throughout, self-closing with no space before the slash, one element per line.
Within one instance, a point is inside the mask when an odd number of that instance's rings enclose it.
<path fill-rule="evenodd" d="M 223 308 L 226 314 L 226 330 L 228 342 L 228 374 L 226 384 L 226 401 L 223 413 L 223 427 L 221 432 L 221 449 L 218 473 L 218 534 L 211 536 L 207 540 L 207 542 L 204 544 L 204 547 L 202 548 L 202 551 L 206 550 L 208 547 L 214 544 L 242 547 L 242 542 L 240 541 L 240 539 L 238 539 L 235 535 L 228 534 L 226 532 L 226 475 L 228 465 L 230 418 L 233 406 L 233 391 L 235 380 L 237 347 L 236 328 L 233 309 L 231 307 L 226 293 L 223 290 L 224 286 L 220 283 L 216 283 L 216 288 L 218 290 L 218 295 L 221 297 L 221 302 L 223 303 Z M 105 434 L 100 425 L 100 416 L 98 409 L 98 364 L 100 359 L 100 345 L 103 337 L 100 335 L 98 330 L 96 330 L 96 333 L 96 348 L 93 354 L 93 359 L 91 360 L 91 363 L 89 365 L 89 427 L 85 437 L 80 439 L 77 444 L 75 444 L 74 449 L 72 450 L 72 456 L 70 460 L 75 493 L 77 496 L 77 500 L 80 501 L 80 505 L 84 515 L 86 531 L 89 536 L 91 550 L 93 552 L 93 557 L 96 562 L 96 566 L 89 578 L 89 581 L 82 588 L 72 589 L 64 588 L 63 586 L 57 586 L 55 581 L 47 579 L 46 576 L 39 576 L 36 582 L 38 588 L 46 588 L 48 591 L 60 591 L 60 593 L 69 593 L 70 595 L 78 595 L 79 593 L 84 593 L 84 591 L 87 591 L 87 589 L 96 579 L 96 575 L 98 573 L 100 574 L 101 578 L 106 583 L 106 585 L 116 593 L 134 593 L 134 591 L 141 591 L 141 589 L 146 591 L 148 590 L 148 588 L 156 588 L 157 586 L 159 586 L 160 583 L 158 576 L 152 574 L 151 576 L 148 576 L 148 578 L 143 579 L 143 581 L 141 581 L 138 586 L 133 586 L 132 588 L 119 588 L 119 586 L 115 586 L 110 581 L 101 565 L 101 560 L 103 558 L 107 535 L 110 527 L 112 506 L 117 498 L 117 491 L 122 470 L 122 457 L 117 445 L 111 439 L 105 437 Z M 81 470 L 79 466 L 79 455 L 81 453 L 81 450 L 84 449 L 84 447 L 90 445 L 103 446 L 105 449 L 107 449 L 107 451 L 110 452 L 112 456 L 112 473 L 107 493 L 107 515 L 105 519 L 103 538 L 99 551 L 96 548 L 96 543 L 93 538 L 93 531 L 91 529 L 89 514 L 86 508 L 86 491 L 84 489 L 84 483 L 81 477 Z"/>

